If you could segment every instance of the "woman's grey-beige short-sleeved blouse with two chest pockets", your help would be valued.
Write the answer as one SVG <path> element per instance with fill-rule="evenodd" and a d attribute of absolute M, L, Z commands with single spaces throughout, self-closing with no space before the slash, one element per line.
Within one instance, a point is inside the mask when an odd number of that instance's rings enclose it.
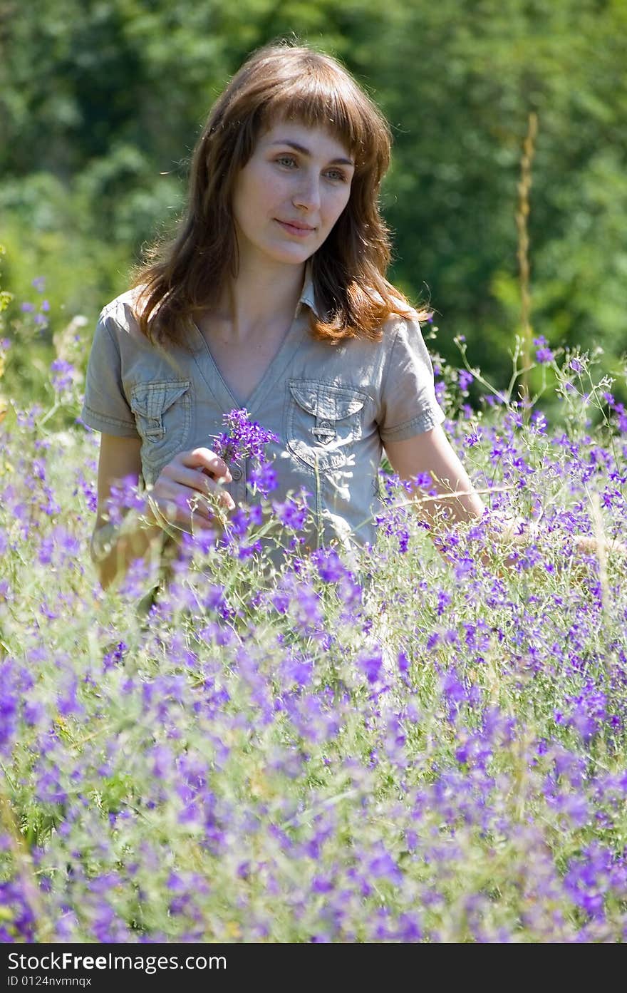
<path fill-rule="evenodd" d="M 183 346 L 153 346 L 133 314 L 134 291 L 102 311 L 89 355 L 82 420 L 96 431 L 141 438 L 144 483 L 155 483 L 177 453 L 213 447 L 223 415 L 242 406 L 193 327 Z M 314 511 L 316 546 L 374 542 L 381 511 L 378 468 L 387 441 L 428 431 L 443 418 L 431 359 L 418 320 L 393 316 L 381 342 L 315 341 L 309 310 L 319 314 L 311 271 L 292 326 L 262 380 L 243 404 L 274 432 L 270 444 L 284 500 L 304 488 Z M 247 460 L 230 465 L 228 490 L 247 501 Z"/>

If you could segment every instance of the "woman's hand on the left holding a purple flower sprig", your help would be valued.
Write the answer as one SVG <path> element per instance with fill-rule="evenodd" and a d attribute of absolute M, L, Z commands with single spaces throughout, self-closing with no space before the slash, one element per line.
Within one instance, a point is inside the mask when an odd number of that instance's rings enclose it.
<path fill-rule="evenodd" d="M 228 466 L 208 448 L 180 452 L 165 466 L 149 493 L 151 523 L 166 521 L 193 530 L 215 527 L 225 512 L 235 509 L 222 489 L 231 482 Z"/>

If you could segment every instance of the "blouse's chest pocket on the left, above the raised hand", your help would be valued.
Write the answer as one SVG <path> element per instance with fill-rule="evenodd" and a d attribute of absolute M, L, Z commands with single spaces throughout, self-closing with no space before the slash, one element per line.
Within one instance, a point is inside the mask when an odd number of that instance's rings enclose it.
<path fill-rule="evenodd" d="M 188 379 L 140 382 L 131 390 L 131 409 L 142 437 L 142 461 L 164 466 L 181 452 L 191 426 Z"/>

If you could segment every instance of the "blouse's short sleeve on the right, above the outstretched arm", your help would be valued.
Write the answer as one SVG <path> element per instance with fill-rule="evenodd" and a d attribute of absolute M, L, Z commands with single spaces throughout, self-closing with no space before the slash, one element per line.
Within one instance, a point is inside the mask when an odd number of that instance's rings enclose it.
<path fill-rule="evenodd" d="M 434 367 L 418 320 L 400 321 L 384 374 L 379 419 L 381 440 L 405 441 L 441 424 Z"/>

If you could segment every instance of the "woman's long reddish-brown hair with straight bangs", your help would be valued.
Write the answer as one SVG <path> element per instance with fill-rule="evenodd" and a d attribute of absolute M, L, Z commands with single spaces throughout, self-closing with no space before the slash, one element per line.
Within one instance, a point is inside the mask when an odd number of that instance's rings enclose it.
<path fill-rule="evenodd" d="M 188 322 L 236 276 L 234 182 L 259 135 L 282 119 L 330 130 L 355 159 L 348 204 L 312 258 L 325 318 L 312 312 L 314 337 L 379 341 L 391 314 L 416 315 L 385 278 L 390 238 L 378 201 L 390 163 L 388 123 L 338 62 L 284 42 L 255 52 L 213 104 L 191 160 L 187 213 L 174 239 L 153 246 L 136 272 L 138 319 L 151 342 L 181 342 Z"/>

